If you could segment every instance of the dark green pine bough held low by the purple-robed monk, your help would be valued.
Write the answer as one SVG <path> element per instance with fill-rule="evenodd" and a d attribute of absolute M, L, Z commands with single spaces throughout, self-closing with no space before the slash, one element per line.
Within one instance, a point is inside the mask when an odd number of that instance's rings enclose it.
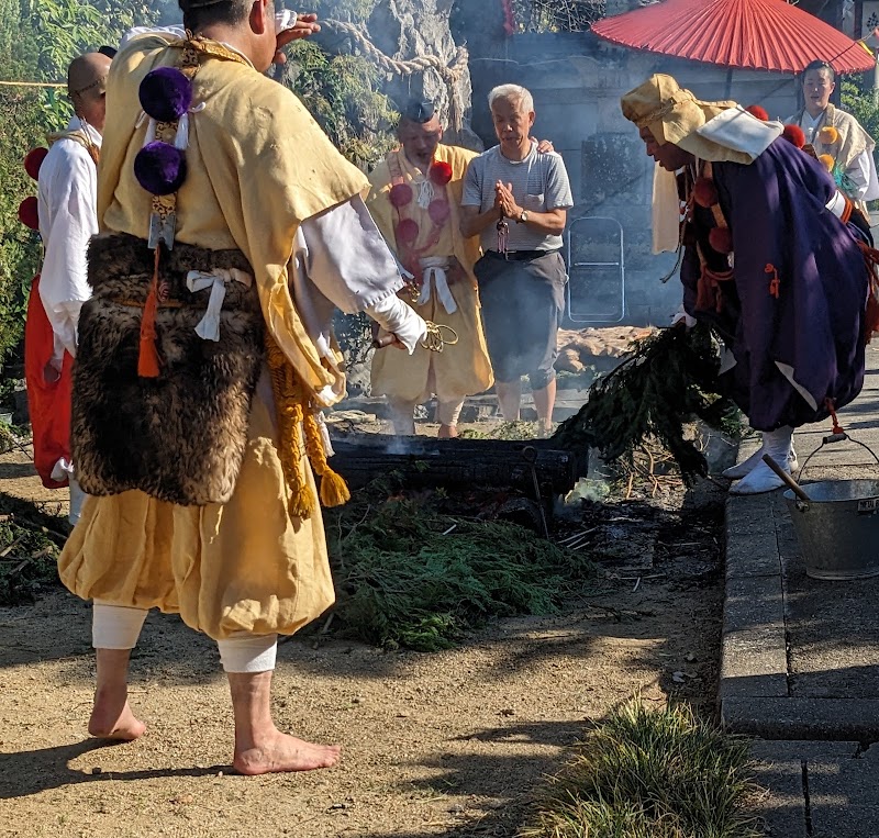
<path fill-rule="evenodd" d="M 554 447 L 598 449 L 602 458 L 632 465 L 635 451 L 658 440 L 691 483 L 708 473 L 708 461 L 690 438 L 700 420 L 734 434 L 735 405 L 717 393 L 720 344 L 709 326 L 664 328 L 633 344 L 631 353 L 590 388 L 588 401 L 553 436 Z"/>

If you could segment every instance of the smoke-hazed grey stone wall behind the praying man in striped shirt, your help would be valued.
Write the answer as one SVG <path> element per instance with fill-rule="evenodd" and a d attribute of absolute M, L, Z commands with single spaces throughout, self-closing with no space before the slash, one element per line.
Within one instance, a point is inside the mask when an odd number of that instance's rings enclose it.
<path fill-rule="evenodd" d="M 666 324 L 680 302 L 678 280 L 665 284 L 659 281 L 674 266 L 674 255 L 650 253 L 653 161 L 645 155 L 637 131 L 620 111 L 620 97 L 653 72 L 671 74 L 702 99 L 759 103 L 776 119 L 790 115 L 797 107 L 792 76 L 727 71 L 670 59 L 615 47 L 591 33 L 516 35 L 503 43 L 502 52 L 475 55 L 470 62 L 472 126 L 487 146 L 497 143 L 487 105 L 489 90 L 505 82 L 524 85 L 534 94 L 535 135 L 552 139 L 565 158 L 577 204 L 570 213 L 571 221 L 602 216 L 622 225 L 624 322 L 638 325 Z M 576 248 L 583 225 L 575 224 L 571 230 Z M 581 247 L 587 256 L 577 257 L 578 260 L 609 260 L 604 255 L 612 247 L 601 247 L 601 242 L 588 244 Z M 588 258 L 590 252 L 601 258 Z M 596 278 L 596 284 L 612 299 L 615 271 L 603 270 L 603 275 Z M 590 299 L 593 293 L 602 297 L 601 288 L 588 282 L 574 282 L 571 288 Z M 589 309 L 590 299 L 581 308 Z M 605 313 L 604 322 L 616 320 L 617 313 L 599 300 L 596 314 Z"/>

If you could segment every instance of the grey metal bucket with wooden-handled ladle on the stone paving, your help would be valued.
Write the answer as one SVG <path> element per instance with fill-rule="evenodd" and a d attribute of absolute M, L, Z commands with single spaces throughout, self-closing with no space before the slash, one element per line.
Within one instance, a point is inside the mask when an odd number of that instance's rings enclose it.
<path fill-rule="evenodd" d="M 847 580 L 879 576 L 879 480 L 806 483 L 810 502 L 789 489 L 797 540 L 812 579 Z"/>

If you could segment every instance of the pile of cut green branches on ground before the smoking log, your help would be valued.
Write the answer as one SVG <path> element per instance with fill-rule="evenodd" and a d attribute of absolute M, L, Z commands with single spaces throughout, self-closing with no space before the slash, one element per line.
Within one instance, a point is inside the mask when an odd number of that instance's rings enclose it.
<path fill-rule="evenodd" d="M 325 518 L 336 621 L 380 646 L 434 651 L 491 617 L 554 613 L 591 568 L 523 527 L 450 517 L 383 482 Z"/>

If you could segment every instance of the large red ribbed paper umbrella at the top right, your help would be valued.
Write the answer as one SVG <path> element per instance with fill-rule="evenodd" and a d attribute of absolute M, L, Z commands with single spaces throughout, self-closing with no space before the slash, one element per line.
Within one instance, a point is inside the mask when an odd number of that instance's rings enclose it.
<path fill-rule="evenodd" d="M 614 44 L 742 69 L 837 72 L 876 66 L 867 48 L 785 0 L 665 0 L 592 24 Z"/>

